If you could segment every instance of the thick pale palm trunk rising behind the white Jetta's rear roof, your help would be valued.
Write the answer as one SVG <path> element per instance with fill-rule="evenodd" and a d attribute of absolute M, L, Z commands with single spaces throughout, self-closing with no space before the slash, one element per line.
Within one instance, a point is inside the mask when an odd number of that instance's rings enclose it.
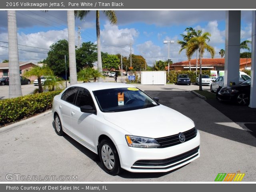
<path fill-rule="evenodd" d="M 68 17 L 69 74 L 70 74 L 70 85 L 73 85 L 73 84 L 77 84 L 74 10 L 68 10 L 67 17 Z"/>

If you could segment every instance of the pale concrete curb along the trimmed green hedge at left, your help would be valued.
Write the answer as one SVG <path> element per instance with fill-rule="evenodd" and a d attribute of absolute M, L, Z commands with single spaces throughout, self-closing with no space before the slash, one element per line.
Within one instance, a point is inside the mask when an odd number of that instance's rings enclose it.
<path fill-rule="evenodd" d="M 6 130 L 9 130 L 9 129 L 14 129 L 14 128 L 16 128 L 16 127 L 18 127 L 18 126 L 21 126 L 21 125 L 28 124 L 28 123 L 33 122 L 33 121 L 36 121 L 36 120 L 38 120 L 38 119 L 40 119 L 40 118 L 44 118 L 44 116 L 47 116 L 48 114 L 52 114 L 52 110 L 46 111 L 46 112 L 41 113 L 41 114 L 39 114 L 39 115 L 36 115 L 36 116 L 34 116 L 34 117 L 27 118 L 27 119 L 25 119 L 25 120 L 21 120 L 21 121 L 19 121 L 19 122 L 10 124 L 10 125 L 8 125 L 8 126 L 4 126 L 4 127 L 0 128 L 0 133 L 5 132 Z"/>

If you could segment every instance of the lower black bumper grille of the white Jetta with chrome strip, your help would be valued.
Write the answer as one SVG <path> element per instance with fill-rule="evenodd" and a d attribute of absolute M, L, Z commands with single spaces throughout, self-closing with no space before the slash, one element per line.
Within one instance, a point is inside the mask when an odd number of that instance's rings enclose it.
<path fill-rule="evenodd" d="M 132 169 L 169 169 L 195 158 L 196 156 L 198 156 L 198 150 L 199 150 L 199 146 L 186 153 L 183 153 L 168 159 L 138 160 L 133 164 L 131 168 Z M 140 167 L 134 167 L 134 166 L 140 166 Z M 143 166 L 147 166 L 147 167 L 143 167 Z M 149 168 L 148 166 L 151 166 L 151 167 Z"/>

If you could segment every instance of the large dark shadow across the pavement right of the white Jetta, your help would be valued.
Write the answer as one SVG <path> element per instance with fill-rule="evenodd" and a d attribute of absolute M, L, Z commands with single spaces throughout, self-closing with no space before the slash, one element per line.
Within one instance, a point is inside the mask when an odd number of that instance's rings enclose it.
<path fill-rule="evenodd" d="M 254 132 L 232 126 L 232 122 L 256 122 L 256 109 L 247 106 L 219 103 L 215 99 L 205 101 L 198 98 L 192 92 L 187 91 L 145 92 L 151 97 L 158 97 L 160 104 L 177 110 L 191 118 L 198 130 L 256 147 L 256 124 L 250 125 L 254 127 L 250 129 Z M 216 112 L 214 108 L 220 113 Z M 223 122 L 227 124 L 222 124 Z"/>

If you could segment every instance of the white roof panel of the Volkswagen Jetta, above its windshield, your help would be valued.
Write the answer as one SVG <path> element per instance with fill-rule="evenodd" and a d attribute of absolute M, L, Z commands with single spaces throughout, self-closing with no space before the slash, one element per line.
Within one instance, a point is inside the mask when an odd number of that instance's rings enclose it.
<path fill-rule="evenodd" d="M 83 87 L 83 88 L 86 88 L 91 91 L 102 90 L 102 89 L 111 89 L 111 88 L 135 87 L 130 84 L 112 83 L 112 82 L 88 82 L 88 83 L 78 83 L 78 84 L 74 84 L 72 86 Z"/>

